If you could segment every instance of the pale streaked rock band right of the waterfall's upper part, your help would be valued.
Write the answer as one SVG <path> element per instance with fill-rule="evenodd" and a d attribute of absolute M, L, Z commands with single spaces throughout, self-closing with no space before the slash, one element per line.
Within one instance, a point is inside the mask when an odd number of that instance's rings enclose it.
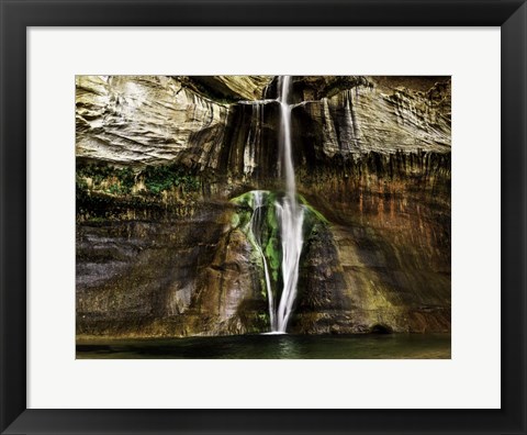
<path fill-rule="evenodd" d="M 450 150 L 450 93 L 438 83 L 427 93 L 400 89 L 382 93 L 369 82 L 293 109 L 300 165 L 369 152 Z"/>

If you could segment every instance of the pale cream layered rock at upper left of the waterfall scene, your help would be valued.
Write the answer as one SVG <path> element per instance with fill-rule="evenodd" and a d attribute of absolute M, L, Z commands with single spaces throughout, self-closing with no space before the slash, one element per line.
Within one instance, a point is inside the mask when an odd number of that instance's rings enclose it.
<path fill-rule="evenodd" d="M 78 158 L 145 165 L 178 156 L 206 165 L 217 161 L 226 119 L 225 105 L 170 77 L 77 78 Z"/>

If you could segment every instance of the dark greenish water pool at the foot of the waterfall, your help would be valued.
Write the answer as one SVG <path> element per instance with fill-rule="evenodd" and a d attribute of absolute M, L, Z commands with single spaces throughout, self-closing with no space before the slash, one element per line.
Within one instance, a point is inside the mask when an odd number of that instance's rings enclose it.
<path fill-rule="evenodd" d="M 78 342 L 77 358 L 445 359 L 450 358 L 450 334 L 239 335 L 169 339 L 97 339 Z"/>

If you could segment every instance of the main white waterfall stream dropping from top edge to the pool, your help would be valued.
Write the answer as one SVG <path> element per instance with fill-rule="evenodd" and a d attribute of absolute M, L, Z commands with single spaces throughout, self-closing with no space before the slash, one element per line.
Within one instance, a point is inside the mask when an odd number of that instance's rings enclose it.
<path fill-rule="evenodd" d="M 274 204 L 280 225 L 282 241 L 282 280 L 283 289 L 277 312 L 277 332 L 285 332 L 296 298 L 299 281 L 299 263 L 302 253 L 302 223 L 304 213 L 296 202 L 296 185 L 291 150 L 291 76 L 282 76 L 279 80 L 278 101 L 281 107 L 280 150 L 281 175 L 285 179 L 285 196 L 282 202 Z"/>

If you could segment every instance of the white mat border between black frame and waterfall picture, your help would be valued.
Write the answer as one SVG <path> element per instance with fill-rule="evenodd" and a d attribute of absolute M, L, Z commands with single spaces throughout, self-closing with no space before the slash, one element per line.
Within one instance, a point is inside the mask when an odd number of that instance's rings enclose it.
<path fill-rule="evenodd" d="M 31 29 L 29 408 L 498 408 L 500 30 Z M 77 74 L 452 75 L 452 360 L 75 360 Z"/>

